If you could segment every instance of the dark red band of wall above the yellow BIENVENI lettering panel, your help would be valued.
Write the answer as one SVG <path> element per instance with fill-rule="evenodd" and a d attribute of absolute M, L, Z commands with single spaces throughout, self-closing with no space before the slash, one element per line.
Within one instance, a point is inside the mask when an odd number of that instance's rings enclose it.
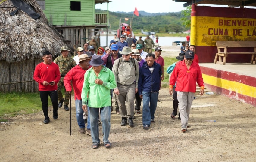
<path fill-rule="evenodd" d="M 195 6 L 197 16 L 224 17 L 232 18 L 256 18 L 255 9 L 253 8 L 228 8 L 228 7 L 209 7 Z"/>

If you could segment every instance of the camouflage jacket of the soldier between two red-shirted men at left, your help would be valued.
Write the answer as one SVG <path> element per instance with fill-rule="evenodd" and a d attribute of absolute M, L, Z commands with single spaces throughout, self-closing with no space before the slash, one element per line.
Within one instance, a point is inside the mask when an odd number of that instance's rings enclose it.
<path fill-rule="evenodd" d="M 70 69 L 76 66 L 76 61 L 70 56 L 63 58 L 62 55 L 60 55 L 54 60 L 54 63 L 59 66 L 61 74 L 66 74 Z"/>

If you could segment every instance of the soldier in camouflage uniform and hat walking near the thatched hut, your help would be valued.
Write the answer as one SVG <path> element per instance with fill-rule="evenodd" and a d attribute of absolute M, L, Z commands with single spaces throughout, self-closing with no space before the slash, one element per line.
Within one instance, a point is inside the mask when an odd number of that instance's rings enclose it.
<path fill-rule="evenodd" d="M 76 66 L 76 61 L 68 55 L 69 53 L 69 48 L 67 46 L 62 46 L 61 47 L 61 55 L 58 56 L 55 60 L 54 63 L 56 63 L 59 68 L 60 68 L 60 73 L 61 73 L 61 80 L 58 82 L 58 100 L 59 100 L 59 107 L 62 107 L 63 101 L 64 101 L 64 109 L 66 111 L 69 110 L 68 104 L 69 104 L 69 98 L 70 94 L 69 92 L 66 91 L 65 86 L 64 86 L 64 76 L 67 74 L 67 72 Z M 64 91 L 65 91 L 65 100 L 63 98 L 63 95 L 61 93 L 62 86 L 64 86 Z"/>

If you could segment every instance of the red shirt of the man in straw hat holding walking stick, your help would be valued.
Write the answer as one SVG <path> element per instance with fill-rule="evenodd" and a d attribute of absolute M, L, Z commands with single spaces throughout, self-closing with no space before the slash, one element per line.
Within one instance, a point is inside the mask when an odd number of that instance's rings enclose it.
<path fill-rule="evenodd" d="M 76 65 L 71 70 L 69 70 L 69 72 L 67 72 L 66 76 L 64 77 L 64 86 L 66 88 L 66 91 L 72 90 L 72 81 L 75 100 L 82 100 L 81 93 L 83 88 L 85 72 L 86 70 L 83 70 L 79 65 Z"/>

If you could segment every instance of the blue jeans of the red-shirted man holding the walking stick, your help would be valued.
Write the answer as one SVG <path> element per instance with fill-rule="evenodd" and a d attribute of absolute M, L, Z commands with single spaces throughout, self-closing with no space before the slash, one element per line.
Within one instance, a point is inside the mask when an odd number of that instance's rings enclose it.
<path fill-rule="evenodd" d="M 76 120 L 79 128 L 85 128 L 84 120 L 83 120 L 83 109 L 82 109 L 82 100 L 75 100 L 76 102 Z M 90 111 L 88 110 L 88 119 L 87 119 L 87 129 L 91 129 L 90 125 Z"/>

